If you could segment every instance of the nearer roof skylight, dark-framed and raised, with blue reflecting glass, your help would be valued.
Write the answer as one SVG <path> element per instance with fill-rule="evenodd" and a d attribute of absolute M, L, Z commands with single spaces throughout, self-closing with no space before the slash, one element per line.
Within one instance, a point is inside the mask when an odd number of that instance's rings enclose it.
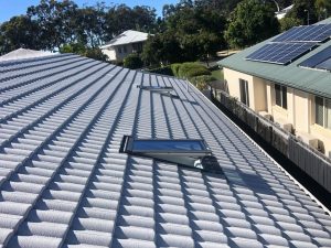
<path fill-rule="evenodd" d="M 119 152 L 215 173 L 222 172 L 217 159 L 212 155 L 204 140 L 200 139 L 135 139 L 125 136 Z"/>

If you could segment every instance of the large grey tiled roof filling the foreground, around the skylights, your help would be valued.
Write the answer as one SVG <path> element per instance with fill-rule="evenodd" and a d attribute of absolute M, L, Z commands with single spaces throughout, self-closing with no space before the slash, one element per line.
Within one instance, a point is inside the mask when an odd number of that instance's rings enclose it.
<path fill-rule="evenodd" d="M 331 217 L 185 82 L 76 55 L 0 72 L 0 247 L 331 247 Z M 203 138 L 224 174 L 125 134 Z"/>

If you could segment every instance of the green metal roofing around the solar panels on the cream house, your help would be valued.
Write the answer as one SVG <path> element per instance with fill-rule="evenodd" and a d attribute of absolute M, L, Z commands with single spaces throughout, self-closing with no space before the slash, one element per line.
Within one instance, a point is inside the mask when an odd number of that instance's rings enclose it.
<path fill-rule="evenodd" d="M 331 23 L 331 18 L 324 20 L 323 22 L 320 22 L 319 24 L 322 23 Z M 331 98 L 330 72 L 302 68 L 298 66 L 308 57 L 330 46 L 331 40 L 321 44 L 319 47 L 312 50 L 311 52 L 307 53 L 306 55 L 301 56 L 300 58 L 296 60 L 289 65 L 277 65 L 245 60 L 247 55 L 249 55 L 250 53 L 258 50 L 259 47 L 261 47 L 263 45 L 265 45 L 274 39 L 275 37 L 271 37 L 237 54 L 234 54 L 227 58 L 224 58 L 218 62 L 218 65 L 245 74 L 265 78 L 271 82 L 276 82 L 307 93 Z M 231 84 L 231 82 L 228 83 Z"/>

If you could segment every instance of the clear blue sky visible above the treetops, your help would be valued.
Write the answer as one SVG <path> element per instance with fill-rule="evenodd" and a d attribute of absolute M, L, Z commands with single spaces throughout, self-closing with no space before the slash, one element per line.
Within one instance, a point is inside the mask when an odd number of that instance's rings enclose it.
<path fill-rule="evenodd" d="M 97 0 L 74 0 L 78 6 L 94 4 Z M 28 7 L 36 6 L 39 0 L 0 0 L 0 22 L 8 21 L 11 17 L 24 14 Z M 134 6 L 149 6 L 156 8 L 157 14 L 162 14 L 162 7 L 164 4 L 177 3 L 179 0 L 104 0 L 107 6 L 110 3 L 125 3 L 129 7 Z"/>

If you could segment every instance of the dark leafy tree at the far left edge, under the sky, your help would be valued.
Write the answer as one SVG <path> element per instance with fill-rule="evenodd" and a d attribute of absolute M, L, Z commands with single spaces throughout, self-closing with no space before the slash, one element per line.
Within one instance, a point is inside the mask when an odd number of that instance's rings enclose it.
<path fill-rule="evenodd" d="M 0 26 L 0 54 L 17 48 L 40 50 L 39 25 L 26 15 L 11 18 Z"/>

